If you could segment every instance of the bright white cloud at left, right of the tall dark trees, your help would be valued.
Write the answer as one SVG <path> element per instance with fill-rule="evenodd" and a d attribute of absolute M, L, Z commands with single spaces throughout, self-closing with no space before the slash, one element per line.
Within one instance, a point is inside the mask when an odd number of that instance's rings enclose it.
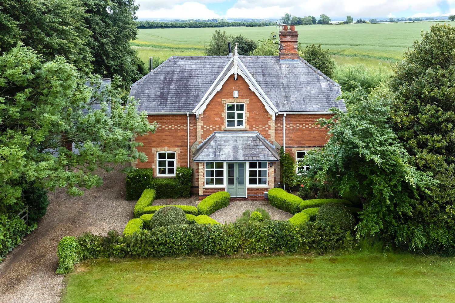
<path fill-rule="evenodd" d="M 157 19 L 212 19 L 221 18 L 213 10 L 209 10 L 206 5 L 198 2 L 185 2 L 183 4 L 173 5 L 169 8 L 162 7 L 158 9 L 138 10 L 136 16 L 140 19 L 157 20 Z"/>

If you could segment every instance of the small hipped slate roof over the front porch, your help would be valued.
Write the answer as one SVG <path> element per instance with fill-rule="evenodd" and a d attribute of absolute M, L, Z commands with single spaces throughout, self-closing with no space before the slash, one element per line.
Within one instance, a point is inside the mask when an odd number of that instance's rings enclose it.
<path fill-rule="evenodd" d="M 195 162 L 278 161 L 275 147 L 257 131 L 216 131 L 197 146 Z"/>

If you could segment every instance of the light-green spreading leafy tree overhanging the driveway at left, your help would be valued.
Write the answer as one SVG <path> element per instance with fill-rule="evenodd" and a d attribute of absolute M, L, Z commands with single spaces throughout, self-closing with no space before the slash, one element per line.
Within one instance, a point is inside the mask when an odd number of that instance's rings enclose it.
<path fill-rule="evenodd" d="M 45 61 L 18 45 L 0 57 L 0 214 L 21 203 L 26 184 L 78 195 L 101 184 L 95 169 L 146 159 L 131 139 L 155 125 L 134 99 L 123 106 L 118 89 L 98 92 L 85 82 L 61 56 Z M 101 81 L 91 83 L 97 88 Z M 93 102 L 101 109 L 92 109 Z M 72 143 L 78 153 L 67 149 Z"/>

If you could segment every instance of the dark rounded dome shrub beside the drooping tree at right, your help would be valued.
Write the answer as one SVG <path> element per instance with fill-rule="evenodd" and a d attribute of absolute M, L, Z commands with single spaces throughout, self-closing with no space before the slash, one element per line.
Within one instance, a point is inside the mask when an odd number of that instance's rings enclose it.
<path fill-rule="evenodd" d="M 322 225 L 338 225 L 344 231 L 354 230 L 353 215 L 346 206 L 340 203 L 327 203 L 319 207 L 316 220 Z"/>

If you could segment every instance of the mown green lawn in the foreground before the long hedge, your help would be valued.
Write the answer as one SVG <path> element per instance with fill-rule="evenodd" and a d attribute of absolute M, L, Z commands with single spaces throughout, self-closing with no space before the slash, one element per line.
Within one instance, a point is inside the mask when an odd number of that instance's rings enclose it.
<path fill-rule="evenodd" d="M 455 302 L 454 265 L 379 253 L 97 260 L 68 275 L 62 302 Z"/>

